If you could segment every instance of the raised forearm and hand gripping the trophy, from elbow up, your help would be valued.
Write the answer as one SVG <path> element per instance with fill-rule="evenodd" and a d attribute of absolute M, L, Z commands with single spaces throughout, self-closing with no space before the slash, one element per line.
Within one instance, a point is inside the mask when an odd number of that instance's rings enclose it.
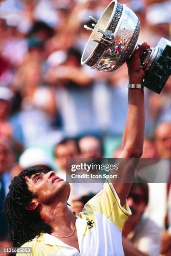
<path fill-rule="evenodd" d="M 145 75 L 141 69 L 141 53 L 149 46 L 144 43 L 133 54 L 128 62 L 128 75 L 130 84 L 142 84 Z M 128 114 L 123 132 L 122 157 L 139 158 L 142 154 L 144 139 L 144 92 L 143 89 L 128 89 Z"/>

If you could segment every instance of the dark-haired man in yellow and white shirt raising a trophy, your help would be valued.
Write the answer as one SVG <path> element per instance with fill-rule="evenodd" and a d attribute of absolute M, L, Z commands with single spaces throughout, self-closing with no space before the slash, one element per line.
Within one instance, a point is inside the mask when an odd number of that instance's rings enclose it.
<path fill-rule="evenodd" d="M 140 55 L 148 47 L 144 43 L 130 60 L 130 84 L 142 83 L 144 72 Z M 143 148 L 143 90 L 129 89 L 128 103 L 120 158 L 135 161 L 134 158 L 141 157 Z M 133 177 L 134 169 L 130 169 L 129 165 L 123 168 L 122 175 L 128 172 Z M 67 206 L 70 194 L 67 182 L 56 177 L 53 171 L 25 170 L 14 178 L 5 200 L 13 244 L 32 247 L 32 253 L 27 255 L 36 256 L 123 256 L 121 229 L 131 214 L 126 202 L 130 188 L 129 183 L 107 180 L 103 190 L 85 205 L 76 218 Z"/>

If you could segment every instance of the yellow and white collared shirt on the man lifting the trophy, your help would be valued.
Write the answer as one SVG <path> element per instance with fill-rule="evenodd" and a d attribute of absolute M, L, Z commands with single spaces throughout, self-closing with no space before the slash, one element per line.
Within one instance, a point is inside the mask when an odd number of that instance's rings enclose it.
<path fill-rule="evenodd" d="M 127 202 L 121 207 L 109 182 L 107 180 L 103 189 L 85 204 L 76 219 L 80 253 L 58 238 L 41 233 L 22 246 L 32 247 L 32 253 L 17 256 L 124 256 L 121 230 L 131 210 Z"/>

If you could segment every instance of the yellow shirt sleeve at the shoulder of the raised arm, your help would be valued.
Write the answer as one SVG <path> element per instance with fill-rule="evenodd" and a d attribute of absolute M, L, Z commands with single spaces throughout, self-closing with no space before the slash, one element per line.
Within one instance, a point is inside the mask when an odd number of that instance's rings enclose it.
<path fill-rule="evenodd" d="M 103 185 L 103 189 L 89 200 L 84 208 L 83 213 L 85 215 L 96 215 L 100 211 L 103 216 L 113 222 L 116 227 L 121 230 L 124 222 L 131 215 L 131 210 L 126 204 L 121 206 L 120 199 L 110 181 L 107 179 Z"/>

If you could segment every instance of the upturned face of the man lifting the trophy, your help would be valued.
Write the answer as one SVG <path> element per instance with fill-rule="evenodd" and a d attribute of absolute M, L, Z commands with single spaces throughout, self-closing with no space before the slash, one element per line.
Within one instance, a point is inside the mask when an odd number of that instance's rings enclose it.
<path fill-rule="evenodd" d="M 37 173 L 31 177 L 25 177 L 28 189 L 37 197 L 35 202 L 40 205 L 50 205 L 55 202 L 66 202 L 70 194 L 70 184 L 60 177 L 55 176 L 54 171 Z"/>

